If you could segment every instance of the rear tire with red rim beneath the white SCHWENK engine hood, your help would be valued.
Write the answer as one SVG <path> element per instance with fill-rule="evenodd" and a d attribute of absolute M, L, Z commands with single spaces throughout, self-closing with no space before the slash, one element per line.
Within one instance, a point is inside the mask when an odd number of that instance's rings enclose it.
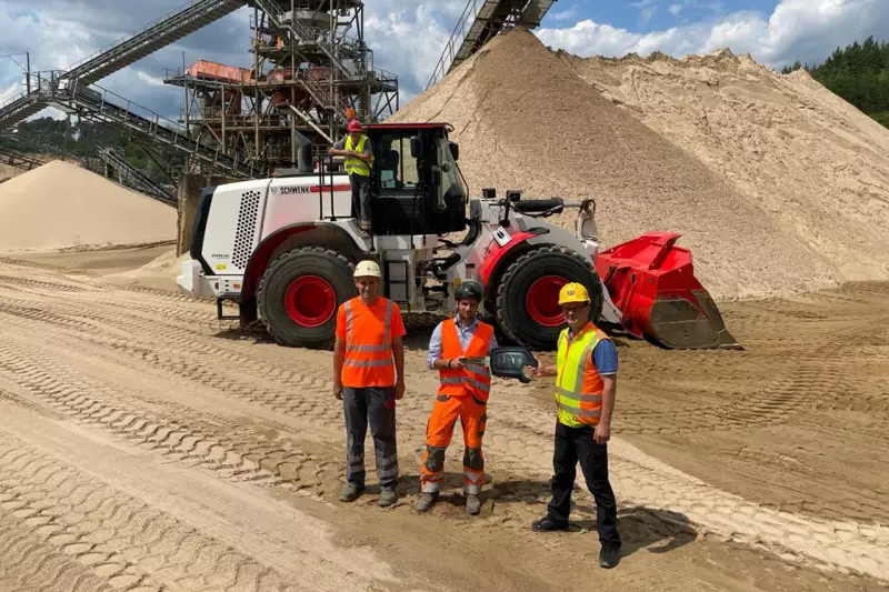
<path fill-rule="evenodd" d="M 293 249 L 262 275 L 257 301 L 269 333 L 281 345 L 331 349 L 337 309 L 358 295 L 354 265 L 329 249 Z"/>

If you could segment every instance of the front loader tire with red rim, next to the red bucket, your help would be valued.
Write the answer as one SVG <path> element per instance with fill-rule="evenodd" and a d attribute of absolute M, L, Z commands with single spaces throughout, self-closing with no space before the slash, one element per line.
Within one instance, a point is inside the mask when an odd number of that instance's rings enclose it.
<path fill-rule="evenodd" d="M 532 350 L 553 350 L 567 327 L 558 305 L 558 290 L 569 282 L 590 293 L 590 318 L 599 318 L 601 282 L 588 259 L 562 247 L 541 247 L 509 264 L 497 285 L 496 321 L 509 340 Z M 541 323 L 543 320 L 546 322 Z"/>

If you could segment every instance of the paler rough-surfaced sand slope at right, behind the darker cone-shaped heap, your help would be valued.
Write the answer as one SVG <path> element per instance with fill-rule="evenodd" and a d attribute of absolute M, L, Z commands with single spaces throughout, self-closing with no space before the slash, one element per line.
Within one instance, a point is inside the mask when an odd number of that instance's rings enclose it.
<path fill-rule="evenodd" d="M 580 59 L 596 90 L 725 177 L 840 280 L 889 279 L 889 130 L 805 71 L 722 50 Z"/>

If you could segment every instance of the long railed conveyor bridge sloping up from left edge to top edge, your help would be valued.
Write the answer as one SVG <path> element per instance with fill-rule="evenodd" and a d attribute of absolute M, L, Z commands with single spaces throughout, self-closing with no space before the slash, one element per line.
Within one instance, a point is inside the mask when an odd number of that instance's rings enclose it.
<path fill-rule="evenodd" d="M 54 79 L 58 88 L 49 89 L 43 81 L 38 81 L 32 84 L 34 88 L 30 92 L 24 91 L 0 104 L 0 128 L 14 126 L 42 111 L 48 104 L 47 94 L 97 82 L 234 12 L 246 3 L 246 0 L 192 0 L 118 43 L 82 59 Z M 31 78 L 33 80 L 33 76 Z"/>

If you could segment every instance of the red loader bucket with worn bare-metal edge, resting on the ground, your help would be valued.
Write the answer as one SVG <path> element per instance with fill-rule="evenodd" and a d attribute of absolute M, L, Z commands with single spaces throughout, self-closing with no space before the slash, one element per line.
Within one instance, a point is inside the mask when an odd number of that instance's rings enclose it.
<path fill-rule="evenodd" d="M 681 234 L 648 232 L 599 253 L 596 270 L 621 310 L 623 328 L 670 349 L 743 349 L 695 278 Z"/>

